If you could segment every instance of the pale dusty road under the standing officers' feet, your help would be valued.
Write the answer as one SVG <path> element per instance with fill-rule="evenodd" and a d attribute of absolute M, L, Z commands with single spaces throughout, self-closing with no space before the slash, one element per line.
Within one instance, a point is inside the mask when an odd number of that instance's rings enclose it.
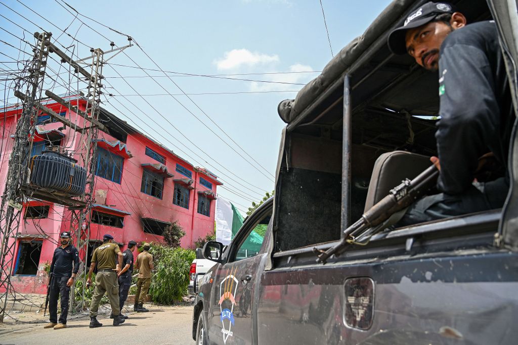
<path fill-rule="evenodd" d="M 126 322 L 113 327 L 113 320 L 98 317 L 103 327 L 89 328 L 90 318 L 68 319 L 67 328 L 44 329 L 45 323 L 28 324 L 5 320 L 0 324 L 0 344 L 194 344 L 191 336 L 192 307 L 147 306 L 150 312 L 130 313 Z M 28 314 L 28 313 L 25 313 Z M 34 313 L 31 313 L 34 314 Z M 35 315 L 13 315 L 32 321 Z M 41 321 L 42 315 L 37 315 Z"/>

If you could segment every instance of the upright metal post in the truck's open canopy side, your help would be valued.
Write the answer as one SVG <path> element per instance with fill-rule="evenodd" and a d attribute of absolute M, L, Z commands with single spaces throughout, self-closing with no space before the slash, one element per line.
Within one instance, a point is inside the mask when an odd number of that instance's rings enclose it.
<path fill-rule="evenodd" d="M 343 238 L 343 230 L 349 227 L 351 222 L 351 155 L 352 155 L 352 106 L 351 106 L 351 77 L 349 74 L 343 78 L 343 126 L 342 126 L 342 207 L 340 238 Z"/>

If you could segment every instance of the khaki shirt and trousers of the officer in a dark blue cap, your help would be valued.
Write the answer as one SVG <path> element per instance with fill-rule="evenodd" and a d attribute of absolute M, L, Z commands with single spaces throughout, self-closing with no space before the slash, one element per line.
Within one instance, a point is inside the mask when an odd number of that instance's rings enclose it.
<path fill-rule="evenodd" d="M 94 250 L 92 262 L 97 263 L 97 274 L 95 275 L 95 290 L 90 304 L 90 316 L 97 316 L 100 299 L 104 294 L 110 299 L 111 310 L 114 316 L 119 315 L 119 283 L 116 268 L 117 253 L 121 250 L 116 243 L 103 243 Z"/>

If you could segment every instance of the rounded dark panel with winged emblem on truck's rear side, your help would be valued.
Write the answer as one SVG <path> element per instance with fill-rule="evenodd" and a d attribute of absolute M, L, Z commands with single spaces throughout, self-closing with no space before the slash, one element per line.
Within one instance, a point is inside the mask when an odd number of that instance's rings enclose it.
<path fill-rule="evenodd" d="M 349 278 L 344 285 L 347 325 L 369 329 L 374 312 L 374 282 L 368 277 Z"/>

